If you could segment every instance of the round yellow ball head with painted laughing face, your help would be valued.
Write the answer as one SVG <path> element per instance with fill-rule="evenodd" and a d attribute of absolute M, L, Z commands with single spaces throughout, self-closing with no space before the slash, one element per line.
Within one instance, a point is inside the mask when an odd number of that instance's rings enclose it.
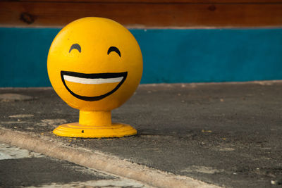
<path fill-rule="evenodd" d="M 73 108 L 110 111 L 135 92 L 142 54 L 131 33 L 106 18 L 82 18 L 64 27 L 51 44 L 48 75 Z"/>

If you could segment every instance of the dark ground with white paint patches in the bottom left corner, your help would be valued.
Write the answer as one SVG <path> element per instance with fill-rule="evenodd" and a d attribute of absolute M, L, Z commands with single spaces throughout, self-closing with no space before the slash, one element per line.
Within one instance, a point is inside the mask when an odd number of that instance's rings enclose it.
<path fill-rule="evenodd" d="M 0 187 L 147 187 L 1 142 L 0 167 Z"/>

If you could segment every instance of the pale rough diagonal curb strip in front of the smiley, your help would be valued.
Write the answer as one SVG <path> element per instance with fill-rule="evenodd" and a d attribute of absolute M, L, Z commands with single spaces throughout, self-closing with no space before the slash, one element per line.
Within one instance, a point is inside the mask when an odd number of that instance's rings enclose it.
<path fill-rule="evenodd" d="M 12 131 L 0 127 L 0 142 L 12 144 L 23 149 L 29 149 L 44 155 L 70 161 L 87 168 L 95 168 L 133 180 L 145 182 L 154 187 L 218 187 L 190 177 L 173 175 L 160 170 L 138 165 L 122 160 L 116 156 L 109 156 L 98 151 L 90 151 L 80 147 L 66 146 L 50 137 L 37 134 Z"/>

